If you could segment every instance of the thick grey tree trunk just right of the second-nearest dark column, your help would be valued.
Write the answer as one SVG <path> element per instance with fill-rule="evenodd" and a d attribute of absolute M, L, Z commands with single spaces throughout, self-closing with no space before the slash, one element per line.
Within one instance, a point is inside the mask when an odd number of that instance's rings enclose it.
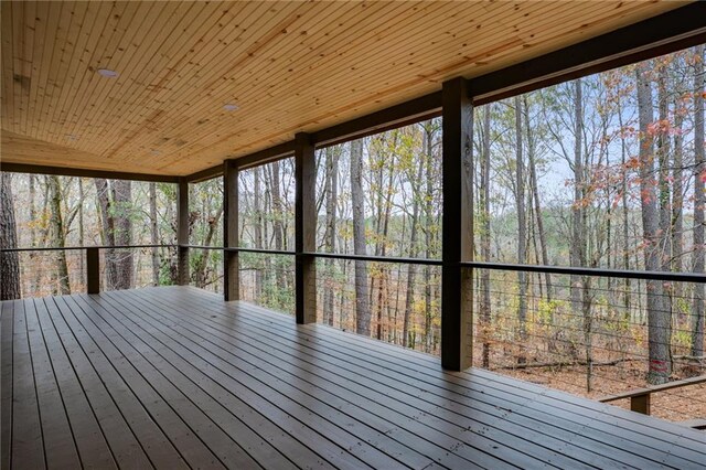
<path fill-rule="evenodd" d="M 363 142 L 351 142 L 351 201 L 353 205 L 353 253 L 365 255 L 365 209 L 363 197 Z M 371 335 L 367 269 L 365 261 L 355 261 L 355 331 Z"/>

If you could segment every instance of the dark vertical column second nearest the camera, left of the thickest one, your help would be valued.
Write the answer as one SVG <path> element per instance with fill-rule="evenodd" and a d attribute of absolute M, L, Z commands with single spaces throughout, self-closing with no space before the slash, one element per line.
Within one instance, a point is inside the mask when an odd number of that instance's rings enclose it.
<path fill-rule="evenodd" d="M 295 178 L 297 323 L 311 323 L 317 321 L 317 264 L 313 256 L 304 253 L 317 249 L 317 168 L 314 147 L 308 133 L 295 136 Z"/>

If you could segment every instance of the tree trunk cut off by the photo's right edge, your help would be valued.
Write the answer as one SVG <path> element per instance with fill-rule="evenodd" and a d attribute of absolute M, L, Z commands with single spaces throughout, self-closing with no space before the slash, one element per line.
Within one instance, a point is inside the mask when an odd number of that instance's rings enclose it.
<path fill-rule="evenodd" d="M 694 68 L 694 273 L 704 273 L 704 213 L 706 212 L 706 159 L 704 158 L 704 46 L 696 47 Z M 704 355 L 704 301 L 706 285 L 694 285 L 694 327 L 692 329 L 692 355 Z"/>

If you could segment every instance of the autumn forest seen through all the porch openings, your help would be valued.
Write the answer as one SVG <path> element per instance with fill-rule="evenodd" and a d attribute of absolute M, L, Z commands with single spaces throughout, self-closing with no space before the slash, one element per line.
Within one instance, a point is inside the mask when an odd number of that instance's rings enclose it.
<path fill-rule="evenodd" d="M 473 260 L 703 274 L 704 76 L 700 45 L 475 107 Z M 223 246 L 222 196 L 221 178 L 191 184 L 192 245 Z M 106 289 L 175 284 L 175 201 L 3 172 L 2 247 L 35 249 L 3 252 L 3 298 L 84 289 L 67 247 L 114 247 Z M 319 258 L 318 321 L 438 354 L 441 203 L 440 118 L 318 149 L 318 252 L 420 259 Z M 239 211 L 240 247 L 293 252 L 293 159 L 242 171 Z M 242 297 L 292 313 L 293 266 L 243 253 Z M 222 250 L 190 248 L 190 268 L 222 291 Z M 501 268 L 473 268 L 478 366 L 591 396 L 704 373 L 703 282 Z"/>

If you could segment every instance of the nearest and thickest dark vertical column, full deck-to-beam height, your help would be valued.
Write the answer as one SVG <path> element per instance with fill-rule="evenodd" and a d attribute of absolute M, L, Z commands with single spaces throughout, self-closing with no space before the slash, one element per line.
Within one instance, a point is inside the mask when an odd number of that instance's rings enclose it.
<path fill-rule="evenodd" d="M 467 79 L 443 83 L 442 106 L 441 366 L 462 371 L 473 354 L 472 270 L 460 266 L 473 255 L 473 106 Z"/>

